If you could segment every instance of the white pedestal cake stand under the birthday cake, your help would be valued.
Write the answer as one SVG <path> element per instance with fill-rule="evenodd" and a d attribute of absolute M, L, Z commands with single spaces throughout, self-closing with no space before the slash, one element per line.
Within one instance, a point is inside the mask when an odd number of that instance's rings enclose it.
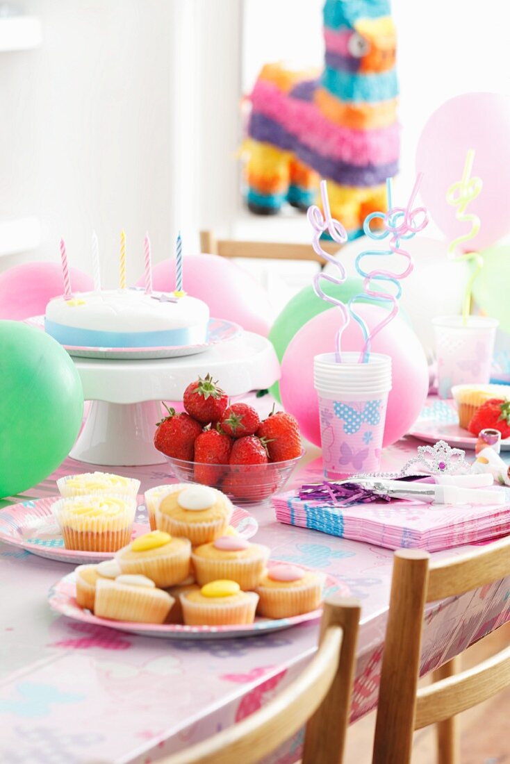
<path fill-rule="evenodd" d="M 165 461 L 153 445 L 161 400 L 182 400 L 185 388 L 208 372 L 230 396 L 264 390 L 280 377 L 274 348 L 244 332 L 198 355 L 151 361 L 73 358 L 89 415 L 70 456 L 93 465 L 155 465 Z"/>

